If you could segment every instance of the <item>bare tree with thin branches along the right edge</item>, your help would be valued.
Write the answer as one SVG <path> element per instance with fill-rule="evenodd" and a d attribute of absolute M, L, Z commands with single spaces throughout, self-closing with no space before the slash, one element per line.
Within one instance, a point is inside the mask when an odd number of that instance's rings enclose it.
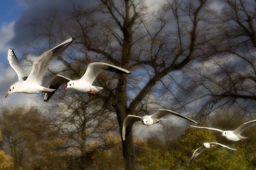
<path fill-rule="evenodd" d="M 222 7 L 217 25 L 221 46 L 212 46 L 216 54 L 197 69 L 191 68 L 193 87 L 187 90 L 199 94 L 198 100 L 191 101 L 203 101 L 199 117 L 226 104 L 239 106 L 244 113 L 254 112 L 256 2 L 227 0 Z"/>

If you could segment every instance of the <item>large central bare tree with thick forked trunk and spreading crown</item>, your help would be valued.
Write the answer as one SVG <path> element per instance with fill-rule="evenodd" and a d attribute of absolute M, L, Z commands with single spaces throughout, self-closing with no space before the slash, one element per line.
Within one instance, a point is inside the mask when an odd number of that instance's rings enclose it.
<path fill-rule="evenodd" d="M 154 89 L 157 85 L 164 86 L 169 83 L 164 77 L 186 67 L 199 53 L 204 52 L 203 43 L 208 42 L 209 37 L 204 36 L 206 31 L 200 32 L 199 29 L 202 29 L 201 11 L 206 0 L 197 3 L 176 0 L 168 2 L 167 7 L 161 7 L 161 12 L 150 14 L 146 13 L 147 7 L 143 1 L 101 2 L 95 12 L 97 14 L 94 15 L 103 17 L 99 20 L 94 18 L 93 26 L 90 20 L 86 19 L 91 17 L 91 13 L 81 10 L 75 13 L 80 30 L 76 32 L 80 33 L 76 42 L 93 56 L 89 61 L 97 61 L 100 58 L 101 61 L 108 61 L 135 72 L 131 77 L 117 75 L 115 88 L 109 88 L 110 86 L 98 81 L 104 86 L 105 95 L 100 97 L 105 98 L 101 99 L 111 101 L 108 104 L 117 114 L 121 136 L 122 122 L 127 115 L 138 114 L 141 110 L 149 113 L 148 107 L 151 103 L 161 105 L 158 99 L 153 101 L 152 97 L 156 95 L 154 93 L 159 93 Z M 140 69 L 148 71 L 147 77 L 142 79 L 143 86 L 139 85 L 141 79 L 136 79 L 136 72 L 139 73 Z M 131 96 L 130 93 L 134 95 Z M 132 133 L 122 141 L 122 146 L 125 169 L 134 169 Z"/>

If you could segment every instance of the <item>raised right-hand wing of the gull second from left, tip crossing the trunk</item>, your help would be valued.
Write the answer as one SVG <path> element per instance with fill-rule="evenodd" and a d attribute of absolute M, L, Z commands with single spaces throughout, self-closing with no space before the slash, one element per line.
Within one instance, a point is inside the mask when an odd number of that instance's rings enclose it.
<path fill-rule="evenodd" d="M 113 71 L 113 72 L 122 73 L 122 74 L 130 74 L 130 71 L 128 71 L 127 69 L 110 65 L 107 63 L 98 62 L 98 63 L 90 63 L 81 79 L 86 81 L 87 83 L 92 84 L 95 81 L 98 74 L 103 70 Z"/>

